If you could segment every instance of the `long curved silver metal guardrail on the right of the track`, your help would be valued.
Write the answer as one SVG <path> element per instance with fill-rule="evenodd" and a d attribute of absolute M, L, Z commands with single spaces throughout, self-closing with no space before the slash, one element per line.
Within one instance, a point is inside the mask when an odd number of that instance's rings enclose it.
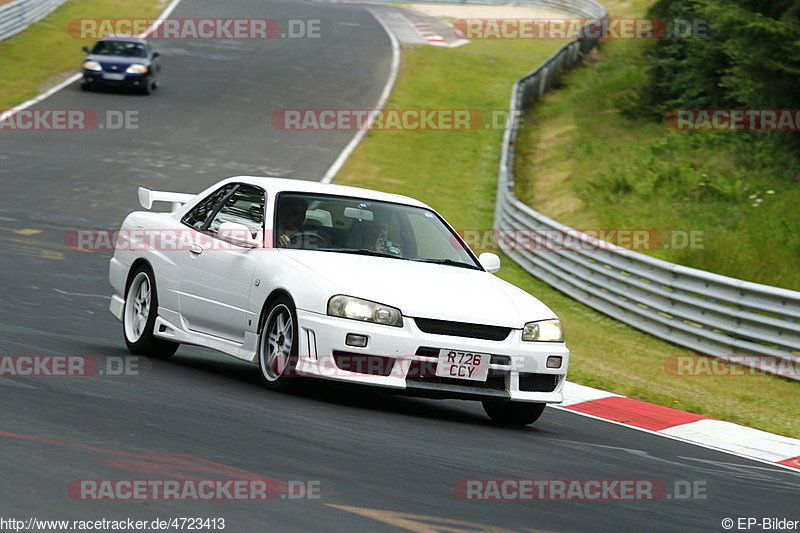
<path fill-rule="evenodd" d="M 530 3 L 584 17 L 607 16 L 605 8 L 593 0 Z M 509 115 L 517 118 L 507 125 L 503 137 L 494 226 L 498 231 L 530 230 L 539 244 L 513 246 L 506 254 L 561 292 L 651 335 L 800 379 L 800 292 L 729 278 L 603 243 L 542 215 L 514 195 L 519 117 L 560 72 L 577 65 L 595 45 L 590 40 L 564 45 L 511 90 Z M 557 238 L 563 235 L 577 238 L 585 246 L 564 249 Z"/>

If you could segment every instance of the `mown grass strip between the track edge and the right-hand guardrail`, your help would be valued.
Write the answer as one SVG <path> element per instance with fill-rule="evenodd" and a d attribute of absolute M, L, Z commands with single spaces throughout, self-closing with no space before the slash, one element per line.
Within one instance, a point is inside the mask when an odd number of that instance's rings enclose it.
<path fill-rule="evenodd" d="M 505 110 L 511 85 L 558 43 L 474 41 L 408 47 L 388 109 Z M 370 131 L 336 183 L 410 195 L 457 229 L 492 228 L 502 132 Z M 503 257 L 500 277 L 548 304 L 572 351 L 570 379 L 661 405 L 800 437 L 800 386 L 774 377 L 679 377 L 670 356 L 689 352 L 566 297 Z"/>

